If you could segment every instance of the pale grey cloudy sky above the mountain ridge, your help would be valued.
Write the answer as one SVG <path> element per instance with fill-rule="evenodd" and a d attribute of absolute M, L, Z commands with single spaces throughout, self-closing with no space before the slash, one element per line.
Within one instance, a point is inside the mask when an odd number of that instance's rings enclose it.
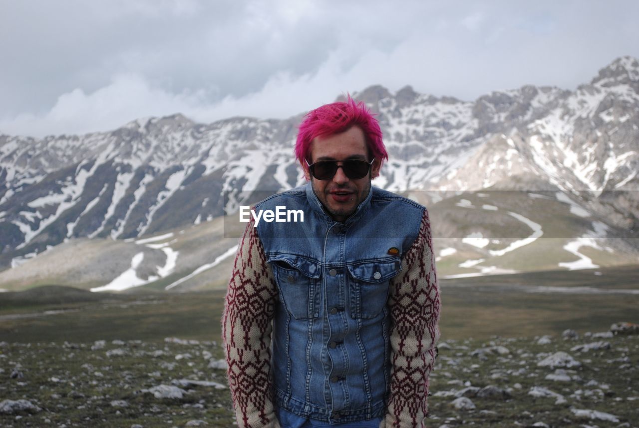
<path fill-rule="evenodd" d="M 286 118 L 381 84 L 473 100 L 639 57 L 639 2 L 0 0 L 0 134 Z"/>

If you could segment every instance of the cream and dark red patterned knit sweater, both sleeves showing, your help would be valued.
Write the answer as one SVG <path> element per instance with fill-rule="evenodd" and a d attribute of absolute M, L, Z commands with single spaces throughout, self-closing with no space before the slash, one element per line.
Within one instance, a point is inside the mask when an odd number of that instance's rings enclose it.
<path fill-rule="evenodd" d="M 270 378 L 275 279 L 251 221 L 240 238 L 222 315 L 231 397 L 240 428 L 279 428 Z M 424 427 L 428 376 L 440 337 L 440 293 L 428 213 L 390 280 L 390 395 L 380 428 Z"/>

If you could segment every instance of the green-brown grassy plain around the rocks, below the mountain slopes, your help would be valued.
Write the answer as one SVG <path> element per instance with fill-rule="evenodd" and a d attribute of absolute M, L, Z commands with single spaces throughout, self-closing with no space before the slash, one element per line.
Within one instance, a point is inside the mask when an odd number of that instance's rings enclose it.
<path fill-rule="evenodd" d="M 450 348 L 442 347 L 431 374 L 435 395 L 429 406 L 436 420 L 429 425 L 530 426 L 545 422 L 550 426 L 616 427 L 629 422 L 625 426 L 638 426 L 639 340 L 633 336 L 590 339 L 583 333 L 603 332 L 617 321 L 639 321 L 639 296 L 518 289 L 531 284 L 636 289 L 638 273 L 639 267 L 632 266 L 604 270 L 601 276 L 592 271 L 564 271 L 442 281 L 440 342 L 447 342 Z M 226 389 L 186 388 L 189 394 L 182 399 L 156 399 L 143 391 L 183 378 L 226 385 L 223 370 L 208 368 L 209 358 L 223 356 L 219 342 L 224 293 L 104 295 L 98 301 L 73 293 L 75 297 L 66 303 L 0 294 L 0 401 L 31 399 L 43 408 L 19 418 L 0 415 L 0 426 L 155 427 L 184 426 L 189 420 L 204 420 L 213 427 L 233 425 Z M 45 314 L 51 310 L 66 312 Z M 561 339 L 567 328 L 577 330 L 581 338 Z M 553 335 L 553 340 L 538 345 L 535 336 L 539 335 Z M 199 342 L 178 344 L 166 342 L 166 337 Z M 105 347 L 91 350 L 95 340 L 105 340 Z M 576 344 L 595 340 L 607 340 L 611 349 L 583 354 L 571 351 Z M 477 348 L 493 345 L 505 346 L 510 352 L 485 359 L 472 355 Z M 124 355 L 107 356 L 111 349 L 122 349 Z M 551 369 L 536 365 L 559 350 L 583 364 L 564 383 L 545 379 Z M 24 377 L 11 378 L 14 370 Z M 475 410 L 454 409 L 452 394 L 463 383 L 496 385 L 508 390 L 511 397 L 471 397 Z M 532 397 L 528 395 L 532 386 L 562 394 L 567 403 Z M 112 406 L 114 400 L 127 401 L 127 407 Z M 571 408 L 605 411 L 620 422 L 581 420 Z"/>

